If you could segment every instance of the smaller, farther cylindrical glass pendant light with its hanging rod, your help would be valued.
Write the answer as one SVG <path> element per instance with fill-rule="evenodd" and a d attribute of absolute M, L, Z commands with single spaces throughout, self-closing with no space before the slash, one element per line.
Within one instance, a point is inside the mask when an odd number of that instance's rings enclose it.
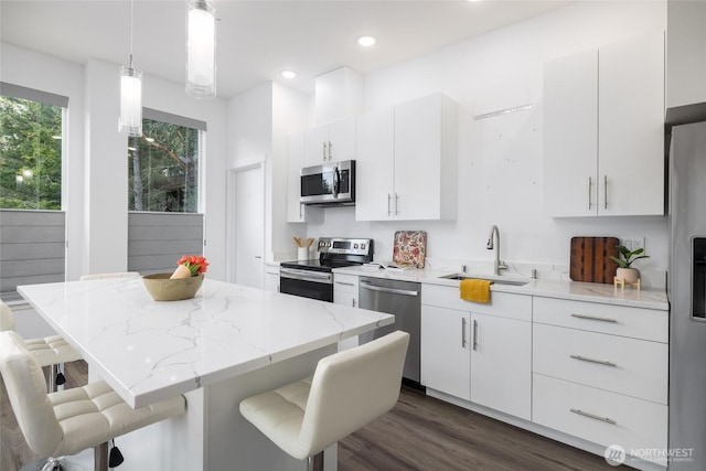
<path fill-rule="evenodd" d="M 132 66 L 132 21 L 135 0 L 130 1 L 130 65 L 120 67 L 120 132 L 142 136 L 142 71 Z"/>

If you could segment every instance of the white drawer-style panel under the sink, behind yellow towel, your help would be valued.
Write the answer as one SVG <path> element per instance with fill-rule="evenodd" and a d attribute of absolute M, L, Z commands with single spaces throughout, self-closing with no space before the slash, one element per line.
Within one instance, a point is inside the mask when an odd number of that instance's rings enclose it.
<path fill-rule="evenodd" d="M 421 303 L 520 321 L 532 321 L 532 297 L 525 295 L 492 291 L 490 303 L 483 304 L 462 300 L 459 297 L 458 287 L 425 283 L 421 288 Z"/>

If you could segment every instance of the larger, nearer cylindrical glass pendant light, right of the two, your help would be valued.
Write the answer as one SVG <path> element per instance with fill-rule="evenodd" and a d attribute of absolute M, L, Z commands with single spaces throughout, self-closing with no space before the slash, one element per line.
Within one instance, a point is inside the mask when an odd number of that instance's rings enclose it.
<path fill-rule="evenodd" d="M 212 0 L 189 0 L 186 9 L 186 94 L 216 96 L 216 10 Z"/>

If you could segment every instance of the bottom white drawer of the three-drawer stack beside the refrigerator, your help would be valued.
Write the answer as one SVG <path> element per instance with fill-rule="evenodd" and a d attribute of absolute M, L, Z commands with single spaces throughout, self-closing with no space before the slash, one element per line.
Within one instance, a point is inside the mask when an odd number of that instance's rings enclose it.
<path fill-rule="evenodd" d="M 666 449 L 666 406 L 539 374 L 533 379 L 532 421 L 627 453 Z"/>

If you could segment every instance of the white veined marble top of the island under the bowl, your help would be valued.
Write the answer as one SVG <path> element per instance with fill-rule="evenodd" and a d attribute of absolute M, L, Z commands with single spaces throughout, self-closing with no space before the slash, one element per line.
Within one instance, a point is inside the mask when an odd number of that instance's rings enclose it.
<path fill-rule="evenodd" d="M 394 317 L 206 279 L 153 301 L 142 279 L 18 291 L 130 406 L 141 407 L 392 324 Z"/>

